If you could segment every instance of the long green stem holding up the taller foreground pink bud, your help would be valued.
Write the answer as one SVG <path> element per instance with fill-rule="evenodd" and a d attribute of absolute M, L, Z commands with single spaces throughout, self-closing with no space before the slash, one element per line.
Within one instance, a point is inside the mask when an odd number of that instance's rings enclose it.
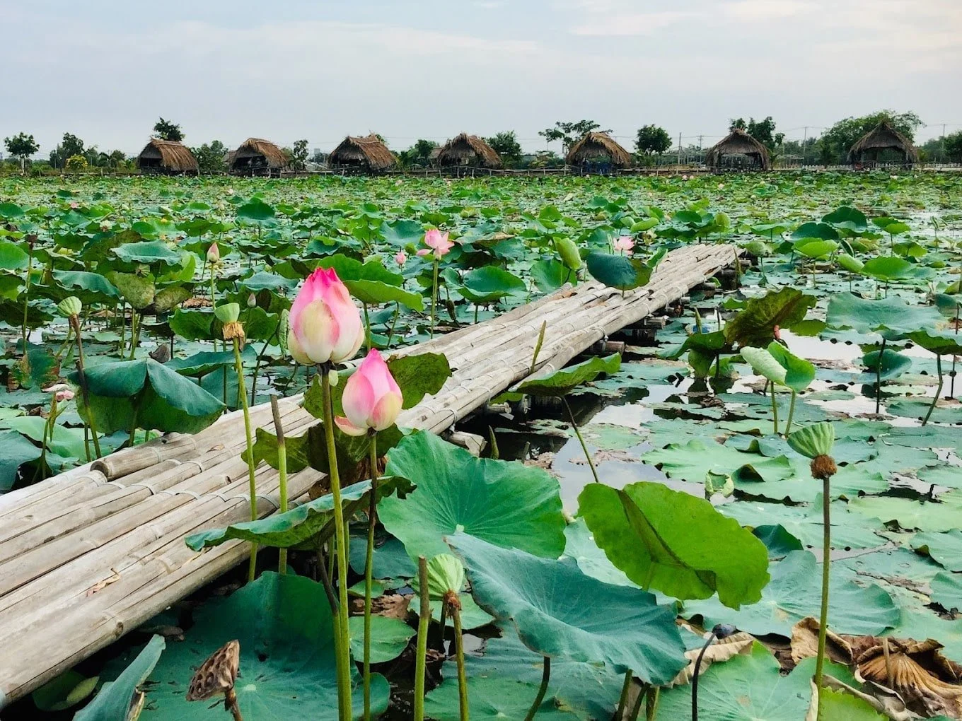
<path fill-rule="evenodd" d="M 320 368 L 321 390 L 324 405 L 324 435 L 327 439 L 328 476 L 331 480 L 331 494 L 334 496 L 334 538 L 338 554 L 338 629 L 341 648 L 338 654 L 338 705 L 344 721 L 353 718 L 351 713 L 351 646 L 347 629 L 347 541 L 344 529 L 343 505 L 341 500 L 341 474 L 338 471 L 338 448 L 334 442 L 334 406 L 331 400 L 331 364 L 323 363 Z"/>

